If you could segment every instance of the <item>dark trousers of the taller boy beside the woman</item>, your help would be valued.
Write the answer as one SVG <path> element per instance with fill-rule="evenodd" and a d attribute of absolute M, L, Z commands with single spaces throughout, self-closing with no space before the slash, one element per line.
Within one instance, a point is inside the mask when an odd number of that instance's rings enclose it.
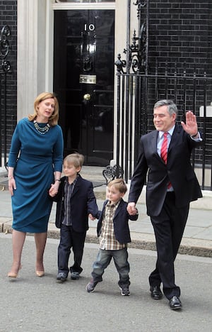
<path fill-rule="evenodd" d="M 69 270 L 70 272 L 82 272 L 81 262 L 85 240 L 86 232 L 79 233 L 74 231 L 72 226 L 61 225 L 58 247 L 58 273 L 64 272 L 68 275 Z M 73 250 L 74 264 L 69 269 L 68 264 L 71 248 Z"/>

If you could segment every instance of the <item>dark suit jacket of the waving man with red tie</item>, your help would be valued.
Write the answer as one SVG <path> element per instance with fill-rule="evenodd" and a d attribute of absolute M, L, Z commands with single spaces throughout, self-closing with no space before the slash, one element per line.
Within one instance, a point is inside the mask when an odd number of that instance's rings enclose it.
<path fill-rule="evenodd" d="M 175 191 L 175 204 L 179 208 L 202 197 L 199 182 L 190 162 L 192 149 L 199 146 L 201 142 L 192 140 L 182 126 L 176 124 L 167 152 L 167 165 L 165 165 L 157 153 L 157 138 L 158 131 L 152 131 L 141 137 L 139 159 L 129 191 L 129 202 L 136 203 L 148 173 L 146 206 L 149 216 L 160 214 L 169 181 Z"/>

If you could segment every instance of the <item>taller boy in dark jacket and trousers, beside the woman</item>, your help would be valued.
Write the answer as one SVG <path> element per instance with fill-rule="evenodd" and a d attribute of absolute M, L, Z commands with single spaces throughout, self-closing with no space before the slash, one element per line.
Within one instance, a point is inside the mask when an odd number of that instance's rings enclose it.
<path fill-rule="evenodd" d="M 88 231 L 88 217 L 92 220 L 98 216 L 98 206 L 93 193 L 92 182 L 83 179 L 79 172 L 84 157 L 78 153 L 64 158 L 64 177 L 58 193 L 49 190 L 49 195 L 57 201 L 55 225 L 60 228 L 58 247 L 57 280 L 64 282 L 71 272 L 71 279 L 78 280 L 82 272 L 81 261 Z M 74 264 L 69 268 L 69 255 L 73 250 Z"/>

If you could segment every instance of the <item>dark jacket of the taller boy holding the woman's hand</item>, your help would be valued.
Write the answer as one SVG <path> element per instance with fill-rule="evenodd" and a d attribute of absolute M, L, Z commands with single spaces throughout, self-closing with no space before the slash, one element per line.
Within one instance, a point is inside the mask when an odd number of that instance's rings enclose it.
<path fill-rule="evenodd" d="M 57 201 L 55 225 L 61 228 L 64 219 L 64 181 L 66 177 L 61 177 L 59 191 L 54 201 Z M 69 201 L 71 206 L 71 221 L 73 230 L 76 232 L 85 232 L 88 230 L 88 214 L 92 214 L 98 218 L 98 206 L 96 204 L 95 195 L 93 193 L 92 182 L 83 179 L 78 175 L 77 182 L 73 188 L 73 193 Z"/>

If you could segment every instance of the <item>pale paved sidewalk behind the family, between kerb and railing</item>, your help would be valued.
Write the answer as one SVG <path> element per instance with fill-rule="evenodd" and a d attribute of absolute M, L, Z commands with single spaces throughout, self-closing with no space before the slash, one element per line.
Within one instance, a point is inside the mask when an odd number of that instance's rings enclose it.
<path fill-rule="evenodd" d="M 102 208 L 106 197 L 106 181 L 102 176 L 105 167 L 83 166 L 82 177 L 90 179 L 94 185 L 99 209 Z M 11 197 L 8 192 L 6 170 L 0 167 L 0 233 L 11 233 L 12 210 Z M 191 203 L 187 226 L 184 231 L 180 254 L 212 257 L 212 192 L 203 191 L 203 198 Z M 124 197 L 127 201 L 127 193 Z M 131 231 L 131 243 L 129 248 L 155 250 L 155 236 L 150 218 L 146 215 L 145 188 L 141 193 L 137 208 L 139 210 L 138 221 L 129 221 Z M 59 229 L 54 225 L 56 204 L 53 204 L 49 218 L 48 237 L 59 238 Z M 97 221 L 89 221 L 89 230 L 86 243 L 98 243 L 96 235 Z"/>

